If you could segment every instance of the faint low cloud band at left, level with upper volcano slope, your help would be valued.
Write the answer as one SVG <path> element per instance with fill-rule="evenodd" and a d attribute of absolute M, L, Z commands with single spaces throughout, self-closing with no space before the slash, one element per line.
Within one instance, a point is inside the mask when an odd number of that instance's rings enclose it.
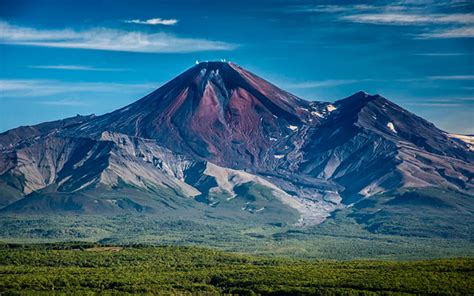
<path fill-rule="evenodd" d="M 0 98 L 43 97 L 71 93 L 135 93 L 152 91 L 158 83 L 64 82 L 43 79 L 0 80 Z"/>

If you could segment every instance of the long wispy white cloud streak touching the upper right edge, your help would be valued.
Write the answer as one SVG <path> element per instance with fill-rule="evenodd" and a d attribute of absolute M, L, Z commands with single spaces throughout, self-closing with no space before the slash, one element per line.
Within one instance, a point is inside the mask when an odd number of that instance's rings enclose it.
<path fill-rule="evenodd" d="M 474 14 L 370 13 L 341 16 L 342 20 L 376 25 L 474 24 Z"/>

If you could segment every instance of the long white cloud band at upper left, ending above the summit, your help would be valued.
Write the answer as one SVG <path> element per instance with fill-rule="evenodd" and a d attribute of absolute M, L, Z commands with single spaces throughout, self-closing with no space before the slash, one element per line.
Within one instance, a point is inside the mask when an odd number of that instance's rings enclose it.
<path fill-rule="evenodd" d="M 185 53 L 232 50 L 234 44 L 167 33 L 143 33 L 107 28 L 84 31 L 43 30 L 0 22 L 0 43 L 28 46 L 79 48 L 147 53 Z"/>

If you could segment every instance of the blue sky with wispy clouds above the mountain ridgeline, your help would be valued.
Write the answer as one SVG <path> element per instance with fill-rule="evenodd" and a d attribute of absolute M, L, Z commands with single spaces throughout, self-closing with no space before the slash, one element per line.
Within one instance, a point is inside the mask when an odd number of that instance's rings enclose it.
<path fill-rule="evenodd" d="M 308 100 L 381 94 L 474 134 L 472 1 L 0 1 L 0 131 L 226 59 Z"/>

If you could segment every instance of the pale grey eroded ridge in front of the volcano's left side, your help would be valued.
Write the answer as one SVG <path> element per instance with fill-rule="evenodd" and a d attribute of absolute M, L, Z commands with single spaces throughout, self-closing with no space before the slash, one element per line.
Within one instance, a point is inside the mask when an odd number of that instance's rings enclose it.
<path fill-rule="evenodd" d="M 257 220 L 296 223 L 304 210 L 258 176 L 124 134 L 103 132 L 97 139 L 48 134 L 10 153 L 10 169 L 0 176 L 6 205 L 1 213 L 199 218 L 237 212 L 235 219 L 265 210 Z"/>

